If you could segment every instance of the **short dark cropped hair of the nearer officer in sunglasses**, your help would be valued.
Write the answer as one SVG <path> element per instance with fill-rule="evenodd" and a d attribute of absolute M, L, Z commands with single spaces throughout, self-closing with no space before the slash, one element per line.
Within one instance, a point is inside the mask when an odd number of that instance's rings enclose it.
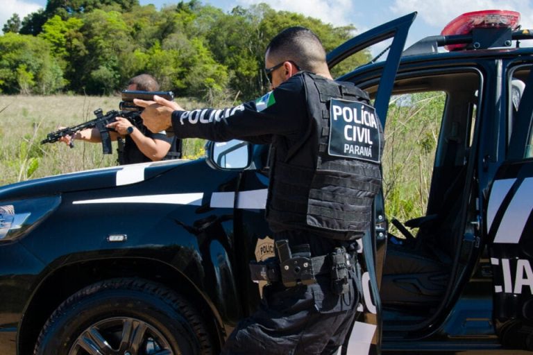
<path fill-rule="evenodd" d="M 319 37 L 308 28 L 285 28 L 267 46 L 269 58 L 278 62 L 292 60 L 302 70 L 316 71 L 325 63 L 325 50 Z"/>

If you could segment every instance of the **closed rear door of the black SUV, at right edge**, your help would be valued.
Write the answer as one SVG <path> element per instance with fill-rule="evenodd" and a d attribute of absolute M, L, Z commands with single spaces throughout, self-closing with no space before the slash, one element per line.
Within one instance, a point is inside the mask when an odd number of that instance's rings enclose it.
<path fill-rule="evenodd" d="M 533 101 L 525 99 L 533 97 L 531 69 L 531 64 L 520 64 L 507 76 L 509 144 L 485 219 L 496 331 L 511 349 L 533 349 Z"/>

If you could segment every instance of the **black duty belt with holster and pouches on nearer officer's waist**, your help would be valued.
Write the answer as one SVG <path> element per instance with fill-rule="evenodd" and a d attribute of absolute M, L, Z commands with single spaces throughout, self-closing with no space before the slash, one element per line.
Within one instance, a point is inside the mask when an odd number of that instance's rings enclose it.
<path fill-rule="evenodd" d="M 316 275 L 330 275 L 332 291 L 348 291 L 348 270 L 353 269 L 350 254 L 344 248 L 321 257 L 294 256 L 287 240 L 276 241 L 279 262 L 250 263 L 251 279 L 255 282 L 282 282 L 285 287 L 316 283 Z"/>

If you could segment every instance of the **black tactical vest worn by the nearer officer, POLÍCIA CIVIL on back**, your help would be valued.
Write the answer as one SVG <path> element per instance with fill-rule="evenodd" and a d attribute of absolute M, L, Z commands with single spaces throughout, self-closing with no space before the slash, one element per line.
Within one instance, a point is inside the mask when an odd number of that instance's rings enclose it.
<path fill-rule="evenodd" d="M 381 188 L 382 127 L 375 114 L 372 120 L 368 94 L 353 84 L 312 73 L 303 80 L 310 125 L 288 150 L 273 144 L 267 220 L 274 232 L 298 228 L 356 239 L 369 228 Z"/>

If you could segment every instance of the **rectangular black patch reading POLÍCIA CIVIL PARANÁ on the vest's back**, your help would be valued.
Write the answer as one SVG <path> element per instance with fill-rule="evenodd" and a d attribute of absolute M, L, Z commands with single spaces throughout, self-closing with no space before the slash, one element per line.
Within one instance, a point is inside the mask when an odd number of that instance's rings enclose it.
<path fill-rule="evenodd" d="M 380 129 L 374 107 L 332 98 L 328 154 L 380 162 Z"/>

